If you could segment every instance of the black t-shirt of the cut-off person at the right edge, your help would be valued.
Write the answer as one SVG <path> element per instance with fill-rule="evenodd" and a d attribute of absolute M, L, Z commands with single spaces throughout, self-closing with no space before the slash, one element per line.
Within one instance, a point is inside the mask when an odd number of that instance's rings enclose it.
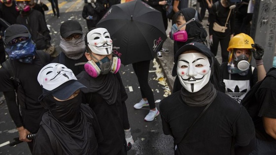
<path fill-rule="evenodd" d="M 271 73 L 276 74 L 276 70 Z M 256 136 L 265 141 L 275 141 L 265 131 L 262 117 L 276 119 L 276 78 L 268 76 L 265 78 L 258 91 L 256 92 L 261 107 L 258 118 L 254 121 L 256 128 Z"/>

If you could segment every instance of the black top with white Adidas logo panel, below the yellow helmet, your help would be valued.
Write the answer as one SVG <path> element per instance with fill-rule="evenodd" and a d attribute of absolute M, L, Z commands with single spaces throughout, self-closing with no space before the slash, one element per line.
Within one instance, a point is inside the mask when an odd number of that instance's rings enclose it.
<path fill-rule="evenodd" d="M 257 83 L 258 71 L 250 65 L 248 73 L 245 76 L 230 74 L 227 62 L 224 62 L 221 64 L 220 80 L 225 83 L 225 93 L 241 103 L 245 94 Z"/>

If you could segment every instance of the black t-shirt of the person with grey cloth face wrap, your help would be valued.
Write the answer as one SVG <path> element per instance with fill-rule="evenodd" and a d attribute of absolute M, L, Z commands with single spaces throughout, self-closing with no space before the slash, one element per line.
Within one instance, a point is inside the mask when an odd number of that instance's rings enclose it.
<path fill-rule="evenodd" d="M 67 68 L 71 69 L 73 71 L 73 73 L 76 75 L 78 75 L 81 71 L 84 70 L 84 64 L 88 61 L 85 57 L 85 55 L 83 54 L 83 56 L 78 59 L 78 60 L 72 60 L 69 59 L 63 52 L 60 46 L 56 47 L 56 50 L 58 51 L 58 53 L 60 53 L 60 55 L 58 55 L 53 61 L 52 63 L 61 63 L 64 64 L 65 66 L 67 66 Z M 83 51 L 84 53 L 85 51 Z M 83 63 L 82 63 L 83 62 Z"/>

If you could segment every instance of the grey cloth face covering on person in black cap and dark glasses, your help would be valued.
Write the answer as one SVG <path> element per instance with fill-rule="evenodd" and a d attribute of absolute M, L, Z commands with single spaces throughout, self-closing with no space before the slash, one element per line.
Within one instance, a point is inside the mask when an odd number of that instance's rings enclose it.
<path fill-rule="evenodd" d="M 84 35 L 81 38 L 66 41 L 62 36 L 60 36 L 61 42 L 60 47 L 63 49 L 64 54 L 72 60 L 80 59 L 85 52 L 85 42 Z"/>

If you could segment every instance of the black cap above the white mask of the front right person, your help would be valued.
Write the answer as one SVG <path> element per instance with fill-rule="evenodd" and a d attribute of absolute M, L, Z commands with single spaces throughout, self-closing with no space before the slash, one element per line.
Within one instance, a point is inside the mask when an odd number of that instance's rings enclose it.
<path fill-rule="evenodd" d="M 199 42 L 190 42 L 184 46 L 182 46 L 174 55 L 174 62 L 177 62 L 179 55 L 181 55 L 183 52 L 195 50 L 198 52 L 201 52 L 205 54 L 208 58 L 212 60 L 214 57 L 211 50 L 203 43 Z"/>

